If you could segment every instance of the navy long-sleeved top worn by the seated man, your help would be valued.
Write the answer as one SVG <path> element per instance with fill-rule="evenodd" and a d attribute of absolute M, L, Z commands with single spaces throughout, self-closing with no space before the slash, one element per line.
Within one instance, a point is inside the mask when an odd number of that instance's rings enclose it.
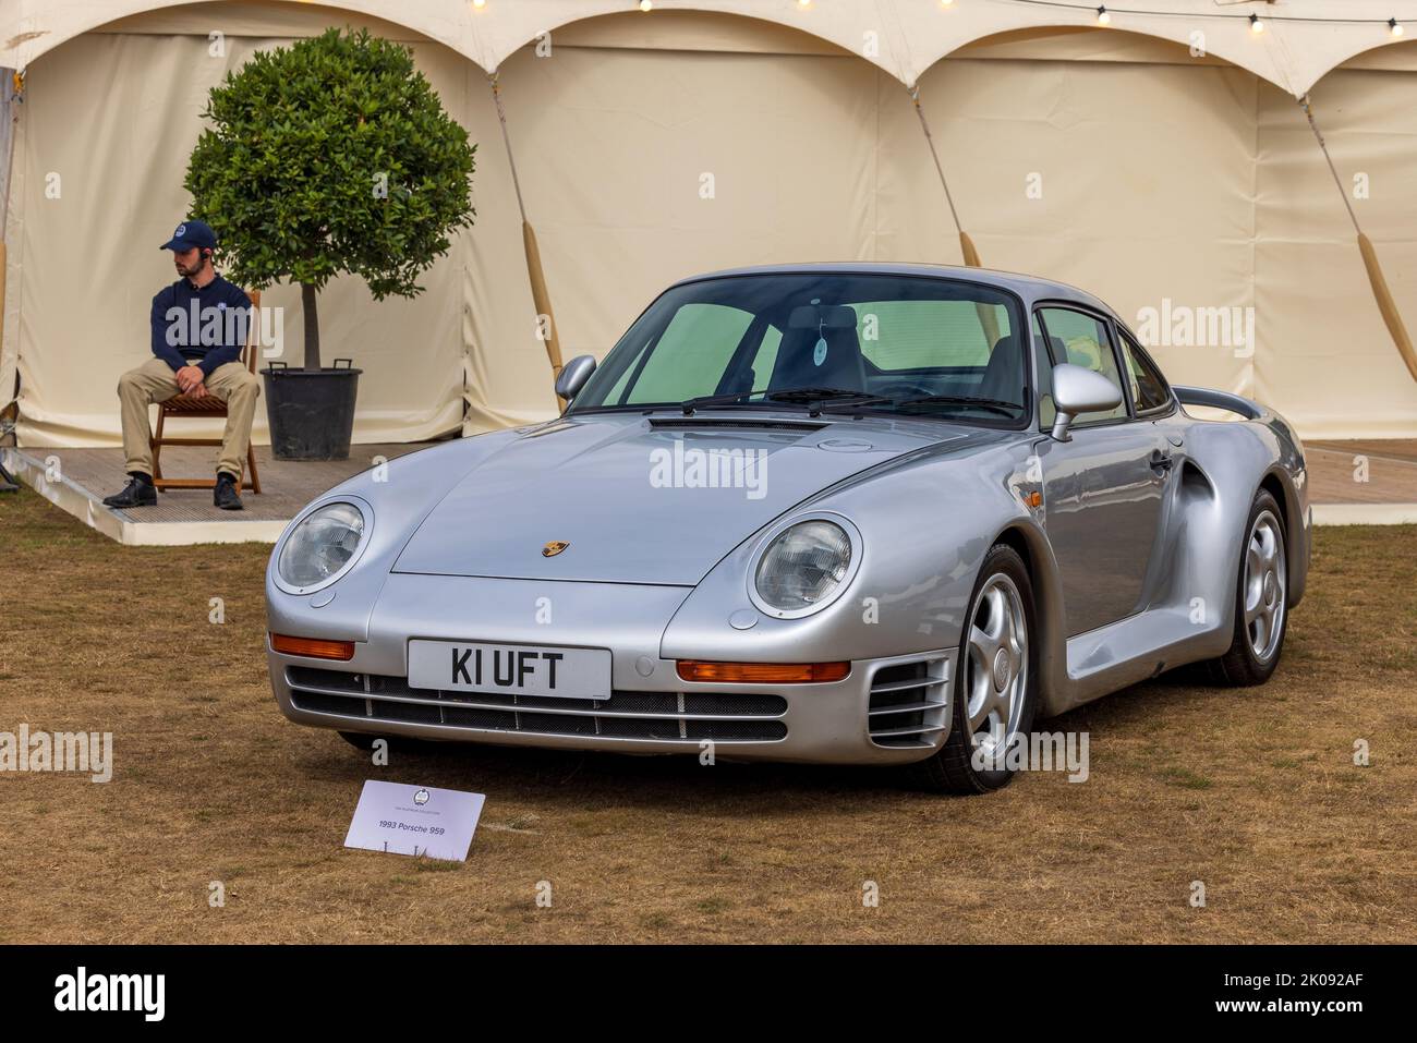
<path fill-rule="evenodd" d="M 201 367 L 203 378 L 241 357 L 252 322 L 251 298 L 220 275 L 201 289 L 177 279 L 153 298 L 153 354 L 173 367 Z"/>

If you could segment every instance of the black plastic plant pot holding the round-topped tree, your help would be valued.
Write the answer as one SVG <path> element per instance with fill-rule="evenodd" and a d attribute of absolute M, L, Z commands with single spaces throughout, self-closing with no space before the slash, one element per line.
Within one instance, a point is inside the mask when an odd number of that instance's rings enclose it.
<path fill-rule="evenodd" d="M 344 363 L 344 366 L 340 366 Z M 292 370 L 272 363 L 265 378 L 271 455 L 278 461 L 347 461 L 354 434 L 359 374 L 349 359 L 333 367 Z"/>

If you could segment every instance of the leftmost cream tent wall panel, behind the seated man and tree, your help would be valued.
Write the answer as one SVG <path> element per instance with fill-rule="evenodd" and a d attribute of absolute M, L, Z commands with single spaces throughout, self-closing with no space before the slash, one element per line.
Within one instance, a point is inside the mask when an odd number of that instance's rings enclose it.
<path fill-rule="evenodd" d="M 218 60 L 205 38 L 91 34 L 31 69 L 16 156 L 26 278 L 11 286 L 26 445 L 119 444 L 115 387 L 149 357 L 149 303 L 176 278 L 157 244 L 187 213 L 181 181 L 207 91 L 252 50 L 278 43 L 230 40 Z M 463 108 L 465 62 L 435 44 L 414 48 L 445 103 Z M 448 306 L 459 282 L 456 259 L 444 258 L 412 300 L 374 306 L 353 278 L 320 293 L 324 363 L 351 356 L 364 370 L 356 441 L 415 441 L 461 425 L 461 317 Z M 266 359 L 299 364 L 299 288 L 271 288 L 262 303 L 283 315 L 283 354 Z M 217 425 L 191 422 L 204 428 Z M 255 438 L 266 439 L 262 410 Z"/>

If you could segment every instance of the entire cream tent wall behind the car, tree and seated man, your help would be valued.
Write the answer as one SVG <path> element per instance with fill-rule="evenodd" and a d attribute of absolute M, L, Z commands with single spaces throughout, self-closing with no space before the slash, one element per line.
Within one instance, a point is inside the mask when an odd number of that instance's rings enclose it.
<path fill-rule="evenodd" d="M 672 43 L 682 26 L 665 23 L 618 28 L 616 38 Z M 757 24 L 767 51 L 611 45 L 604 27 L 582 23 L 580 44 L 568 31 L 553 57 L 529 47 L 503 64 L 565 359 L 602 356 L 655 293 L 694 272 L 750 261 L 958 262 L 905 88 L 830 48 L 782 54 L 772 50 L 782 30 Z M 1229 65 L 1131 61 L 1141 37 L 1080 50 L 1098 35 L 1000 41 L 921 79 L 985 264 L 1085 286 L 1139 332 L 1148 310 L 1166 306 L 1253 308 L 1253 350 L 1158 343 L 1168 376 L 1254 394 L 1308 438 L 1417 436 L 1417 388 L 1294 101 Z M 218 58 L 204 34 L 95 33 L 31 67 L 0 360 L 3 380 L 18 357 L 23 444 L 118 444 L 113 384 L 145 357 L 147 300 L 171 278 L 153 247 L 186 213 L 181 176 L 205 92 L 251 51 L 281 43 L 228 35 Z M 326 361 L 351 356 L 366 370 L 357 441 L 472 434 L 555 412 L 487 78 L 446 47 L 412 45 L 479 143 L 478 217 L 414 300 L 374 303 L 357 279 L 322 293 Z M 1399 61 L 1410 54 L 1365 55 L 1335 72 L 1315 105 L 1345 177 L 1370 176 L 1372 197 L 1355 205 L 1411 327 L 1417 213 L 1397 188 L 1417 140 L 1403 103 L 1411 72 Z M 62 177 L 58 200 L 45 194 L 51 171 Z M 713 174 L 711 200 L 700 196 L 703 174 Z M 1040 198 L 1027 196 L 1030 174 Z M 86 302 L 89 313 L 68 295 L 74 271 L 112 283 Z M 285 357 L 299 361 L 298 292 L 272 288 L 266 303 L 286 309 Z"/>

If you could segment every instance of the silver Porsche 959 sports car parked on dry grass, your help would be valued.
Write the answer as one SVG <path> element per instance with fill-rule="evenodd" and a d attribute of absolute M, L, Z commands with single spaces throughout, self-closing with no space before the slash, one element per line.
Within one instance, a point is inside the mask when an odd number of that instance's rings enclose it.
<path fill-rule="evenodd" d="M 557 391 L 551 422 L 402 456 L 290 523 L 266 574 L 286 717 L 983 792 L 1039 717 L 1200 660 L 1263 683 L 1304 592 L 1289 425 L 1172 387 L 1056 282 L 703 275 Z"/>

